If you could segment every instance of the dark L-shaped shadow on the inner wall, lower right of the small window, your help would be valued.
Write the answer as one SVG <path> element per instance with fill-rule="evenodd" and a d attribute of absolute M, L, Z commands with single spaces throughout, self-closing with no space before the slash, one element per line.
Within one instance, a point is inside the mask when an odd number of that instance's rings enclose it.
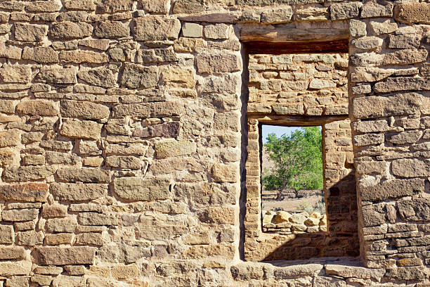
<path fill-rule="evenodd" d="M 275 237 L 271 243 L 278 247 L 275 247 L 263 261 L 360 255 L 356 178 L 353 172 L 327 187 L 326 208 L 327 232 L 282 236 L 280 246 Z"/>

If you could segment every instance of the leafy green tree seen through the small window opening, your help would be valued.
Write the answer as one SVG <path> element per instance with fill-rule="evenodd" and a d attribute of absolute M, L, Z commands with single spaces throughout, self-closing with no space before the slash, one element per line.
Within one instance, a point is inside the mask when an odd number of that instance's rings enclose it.
<path fill-rule="evenodd" d="M 320 127 L 301 127 L 289 136 L 268 134 L 264 144 L 271 171 L 263 172 L 263 186 L 268 190 L 323 189 L 323 152 Z"/>

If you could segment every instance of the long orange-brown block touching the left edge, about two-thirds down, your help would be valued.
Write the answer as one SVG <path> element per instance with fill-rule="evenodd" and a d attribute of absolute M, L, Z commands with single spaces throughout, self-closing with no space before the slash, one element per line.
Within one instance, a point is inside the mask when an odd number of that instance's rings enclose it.
<path fill-rule="evenodd" d="M 6 201 L 45 202 L 48 197 L 48 184 L 29 183 L 0 185 L 0 198 Z"/>

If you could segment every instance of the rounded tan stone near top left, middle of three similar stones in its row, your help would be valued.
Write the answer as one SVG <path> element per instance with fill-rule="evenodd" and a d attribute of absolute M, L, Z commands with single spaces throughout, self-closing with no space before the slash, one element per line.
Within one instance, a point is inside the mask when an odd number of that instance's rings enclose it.
<path fill-rule="evenodd" d="M 52 39 L 82 39 L 93 34 L 93 26 L 88 23 L 60 22 L 49 29 Z"/>

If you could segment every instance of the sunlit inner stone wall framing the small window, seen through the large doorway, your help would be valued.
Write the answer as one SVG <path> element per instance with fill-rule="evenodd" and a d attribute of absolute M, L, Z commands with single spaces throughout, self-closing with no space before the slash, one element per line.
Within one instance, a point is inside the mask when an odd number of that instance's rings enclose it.
<path fill-rule="evenodd" d="M 249 55 L 247 260 L 359 255 L 347 62 L 345 54 Z M 267 223 L 261 214 L 261 122 L 323 126 L 327 219 L 316 230 L 315 224 L 306 225 L 305 216 L 274 224 L 276 218 Z"/>

